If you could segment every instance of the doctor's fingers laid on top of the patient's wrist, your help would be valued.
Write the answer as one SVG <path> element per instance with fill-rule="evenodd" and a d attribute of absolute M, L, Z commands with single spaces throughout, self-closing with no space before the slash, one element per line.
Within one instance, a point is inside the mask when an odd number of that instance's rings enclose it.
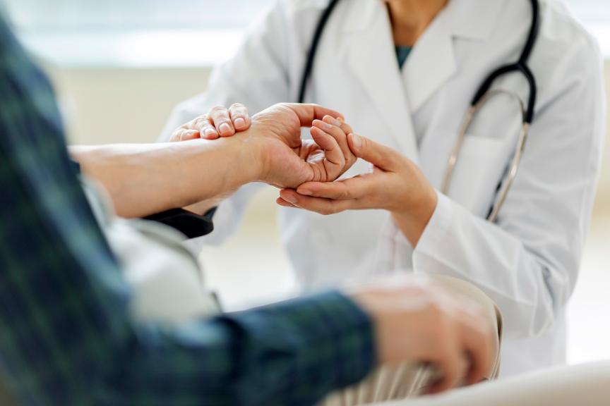
<path fill-rule="evenodd" d="M 216 106 L 203 116 L 177 128 L 169 141 L 188 141 L 197 138 L 216 140 L 219 137 L 231 137 L 235 133 L 248 130 L 251 123 L 250 113 L 243 104 L 235 103 L 228 109 L 225 106 Z"/>

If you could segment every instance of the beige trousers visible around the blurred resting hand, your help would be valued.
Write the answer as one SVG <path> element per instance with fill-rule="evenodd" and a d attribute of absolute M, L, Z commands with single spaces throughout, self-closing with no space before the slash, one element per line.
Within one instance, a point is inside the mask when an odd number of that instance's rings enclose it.
<path fill-rule="evenodd" d="M 433 279 L 443 285 L 457 300 L 467 297 L 478 302 L 484 309 L 489 326 L 498 332 L 494 338 L 496 360 L 487 374 L 487 379 L 496 379 L 500 369 L 502 338 L 502 315 L 498 307 L 482 290 L 470 283 L 448 276 L 433 276 Z M 357 386 L 330 395 L 320 406 L 355 406 L 415 398 L 421 396 L 426 391 L 426 387 L 437 379 L 438 374 L 432 367 L 415 364 L 383 367 Z"/>

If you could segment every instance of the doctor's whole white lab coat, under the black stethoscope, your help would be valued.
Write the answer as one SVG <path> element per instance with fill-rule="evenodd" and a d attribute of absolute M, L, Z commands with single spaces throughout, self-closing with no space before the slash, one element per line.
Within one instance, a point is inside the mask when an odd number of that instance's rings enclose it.
<path fill-rule="evenodd" d="M 215 104 L 240 101 L 256 112 L 295 101 L 326 4 L 277 1 L 215 70 L 208 93 L 174 111 L 164 136 Z M 280 209 L 282 240 L 306 290 L 393 272 L 444 274 L 482 288 L 505 319 L 504 376 L 565 361 L 565 306 L 578 278 L 604 134 L 597 44 L 563 4 L 542 0 L 541 16 L 530 60 L 537 116 L 496 224 L 484 217 L 520 126 L 508 97 L 487 106 L 467 135 L 448 197 L 440 195 L 415 249 L 384 211 Z M 530 21 L 527 0 L 450 0 L 401 71 L 382 1 L 342 1 L 325 30 L 308 100 L 341 111 L 357 133 L 399 150 L 441 187 L 474 91 L 491 70 L 518 59 Z M 527 97 L 520 75 L 496 87 Z M 346 176 L 367 169 L 360 161 Z M 220 206 L 208 242 L 232 233 L 256 187 Z"/>

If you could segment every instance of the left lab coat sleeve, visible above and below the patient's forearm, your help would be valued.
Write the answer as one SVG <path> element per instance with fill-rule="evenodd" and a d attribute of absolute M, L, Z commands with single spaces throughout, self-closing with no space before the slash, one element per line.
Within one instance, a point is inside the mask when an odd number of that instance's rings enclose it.
<path fill-rule="evenodd" d="M 160 142 L 169 140 L 176 128 L 207 113 L 213 106 L 228 107 L 239 102 L 254 114 L 273 104 L 292 101 L 287 24 L 285 2 L 278 1 L 249 29 L 232 59 L 215 68 L 207 92 L 174 109 Z M 189 246 L 199 250 L 203 244 L 220 244 L 229 238 L 239 227 L 251 197 L 260 188 L 260 184 L 247 185 L 220 204 L 214 216 L 215 231 L 191 240 Z"/>

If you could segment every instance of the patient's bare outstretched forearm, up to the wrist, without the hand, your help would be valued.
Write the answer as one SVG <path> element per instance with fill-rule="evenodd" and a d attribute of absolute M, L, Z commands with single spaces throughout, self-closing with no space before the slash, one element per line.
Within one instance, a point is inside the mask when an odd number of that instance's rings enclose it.
<path fill-rule="evenodd" d="M 143 217 L 217 199 L 256 180 L 259 160 L 239 138 L 71 147 L 71 153 L 104 185 L 119 216 Z"/>

